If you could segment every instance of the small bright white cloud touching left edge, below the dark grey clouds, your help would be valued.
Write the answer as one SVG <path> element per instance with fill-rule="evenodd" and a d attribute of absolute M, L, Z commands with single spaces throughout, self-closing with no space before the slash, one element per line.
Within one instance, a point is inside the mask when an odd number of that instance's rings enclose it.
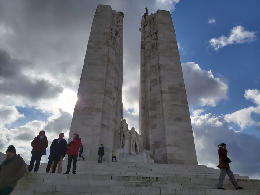
<path fill-rule="evenodd" d="M 9 125 L 19 118 L 24 118 L 14 106 L 0 105 L 0 125 Z"/>

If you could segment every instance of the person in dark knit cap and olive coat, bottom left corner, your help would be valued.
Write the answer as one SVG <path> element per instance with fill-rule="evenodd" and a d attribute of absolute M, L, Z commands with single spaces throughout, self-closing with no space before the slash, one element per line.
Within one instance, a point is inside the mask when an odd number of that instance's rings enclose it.
<path fill-rule="evenodd" d="M 9 195 L 26 172 L 26 164 L 13 145 L 7 148 L 6 156 L 0 165 L 0 195 Z"/>

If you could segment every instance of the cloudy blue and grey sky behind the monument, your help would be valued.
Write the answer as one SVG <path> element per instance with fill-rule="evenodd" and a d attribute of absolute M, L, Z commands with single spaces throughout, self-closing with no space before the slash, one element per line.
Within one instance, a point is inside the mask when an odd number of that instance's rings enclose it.
<path fill-rule="evenodd" d="M 218 164 L 225 142 L 233 172 L 260 178 L 260 2 L 207 0 L 0 0 L 0 151 L 68 138 L 98 4 L 124 12 L 123 105 L 139 129 L 140 21 L 145 7 L 172 14 L 198 163 Z M 46 161 L 48 155 L 42 158 Z"/>

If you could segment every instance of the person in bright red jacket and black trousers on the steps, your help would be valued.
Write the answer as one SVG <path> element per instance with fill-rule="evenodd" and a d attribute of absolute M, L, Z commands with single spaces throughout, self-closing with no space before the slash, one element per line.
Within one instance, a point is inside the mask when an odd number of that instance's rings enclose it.
<path fill-rule="evenodd" d="M 76 168 L 77 168 L 77 158 L 79 154 L 79 148 L 81 144 L 81 138 L 80 136 L 75 133 L 73 136 L 73 140 L 67 144 L 68 151 L 68 165 L 67 165 L 67 171 L 64 174 L 69 174 L 70 168 L 71 168 L 71 161 L 73 161 L 73 167 L 72 167 L 72 174 L 76 174 Z"/>

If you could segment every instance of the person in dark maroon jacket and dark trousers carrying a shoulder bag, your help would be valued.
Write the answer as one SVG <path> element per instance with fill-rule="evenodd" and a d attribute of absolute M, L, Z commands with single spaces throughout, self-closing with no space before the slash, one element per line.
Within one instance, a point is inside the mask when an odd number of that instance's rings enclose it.
<path fill-rule="evenodd" d="M 28 167 L 28 172 L 31 172 L 33 170 L 35 160 L 36 162 L 35 162 L 34 172 L 38 172 L 41 156 L 43 152 L 45 152 L 46 148 L 48 147 L 48 140 L 45 135 L 45 131 L 39 132 L 39 135 L 37 135 L 37 137 L 35 137 L 34 140 L 32 141 L 31 146 L 33 147 L 31 151 L 32 158 L 31 158 L 30 165 Z M 44 155 L 46 155 L 46 152 Z"/>

